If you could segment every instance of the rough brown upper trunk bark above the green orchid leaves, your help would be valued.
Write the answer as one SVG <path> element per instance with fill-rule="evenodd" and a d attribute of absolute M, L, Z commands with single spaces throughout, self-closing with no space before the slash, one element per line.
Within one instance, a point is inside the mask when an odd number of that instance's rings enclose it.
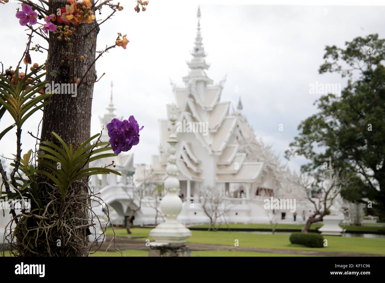
<path fill-rule="evenodd" d="M 56 14 L 56 9 L 65 6 L 67 1 L 50 0 L 50 12 Z M 75 77 L 81 78 L 88 67 L 95 60 L 96 38 L 99 32 L 99 27 L 95 28 L 96 21 L 92 23 L 82 23 L 74 26 L 76 28 L 76 36 L 80 41 L 76 46 L 77 54 L 83 55 L 84 60 L 75 59 L 74 66 L 70 66 L 68 60 L 63 60 L 63 55 L 60 51 L 64 49 L 69 52 L 69 42 L 64 39 L 58 40 L 57 35 L 50 32 L 49 51 L 48 51 L 48 67 L 47 77 L 48 82 L 55 83 L 74 83 L 70 74 L 70 69 L 75 70 Z M 69 25 L 73 27 L 73 25 Z M 94 30 L 92 30 L 94 29 Z M 90 30 L 92 30 L 90 32 Z M 89 33 L 90 32 L 90 33 Z M 87 37 L 85 35 L 89 33 Z M 75 44 L 72 43 L 75 47 Z M 59 67 L 55 75 L 50 72 L 56 67 Z M 91 122 L 91 106 L 92 94 L 94 92 L 94 82 L 97 79 L 95 64 L 90 68 L 84 82 L 77 88 L 77 96 L 71 97 L 70 94 L 54 94 L 50 98 L 52 103 L 44 109 L 42 122 L 42 141 L 51 141 L 56 143 L 56 139 L 51 136 L 50 132 L 55 131 L 62 139 L 69 143 L 75 144 L 90 137 L 90 122 Z"/>

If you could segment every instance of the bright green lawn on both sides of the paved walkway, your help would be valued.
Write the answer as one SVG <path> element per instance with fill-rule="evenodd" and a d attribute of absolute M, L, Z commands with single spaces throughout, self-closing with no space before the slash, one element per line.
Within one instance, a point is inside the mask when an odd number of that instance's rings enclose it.
<path fill-rule="evenodd" d="M 236 224 L 244 225 L 244 224 Z M 263 224 L 258 224 L 263 225 Z M 282 224 L 284 225 L 284 224 Z M 368 227 L 365 227 L 368 228 Z M 373 228 L 373 227 L 370 227 Z M 375 227 L 374 227 L 375 228 Z M 150 239 L 148 236 L 152 228 L 132 228 L 131 237 L 141 237 L 139 240 Z M 127 236 L 124 228 L 115 228 L 117 236 Z M 234 246 L 238 240 L 240 247 L 254 248 L 276 248 L 292 250 L 318 250 L 318 251 L 340 251 L 351 253 L 373 253 L 385 254 L 385 238 L 363 238 L 363 237 L 338 237 L 324 236 L 328 240 L 328 246 L 323 248 L 306 248 L 301 245 L 291 244 L 289 234 L 251 234 L 241 232 L 225 231 L 197 231 L 192 230 L 192 236 L 187 239 L 188 243 L 219 244 Z M 112 236 L 112 229 L 107 229 L 107 235 Z M 103 256 L 104 251 L 97 251 L 91 256 Z M 124 250 L 126 256 L 148 256 L 148 251 Z M 5 254 L 7 256 L 7 252 Z M 9 253 L 8 253 L 9 256 Z M 107 252 L 105 256 L 121 256 L 118 251 Z M 251 251 L 192 251 L 192 256 L 301 256 L 278 253 L 256 253 Z"/>

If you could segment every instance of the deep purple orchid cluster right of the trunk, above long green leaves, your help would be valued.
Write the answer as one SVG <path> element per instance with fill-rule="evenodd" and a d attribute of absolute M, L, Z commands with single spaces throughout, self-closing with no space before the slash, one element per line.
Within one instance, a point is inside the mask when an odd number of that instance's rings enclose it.
<path fill-rule="evenodd" d="M 108 136 L 110 137 L 110 144 L 115 154 L 122 151 L 129 151 L 132 146 L 139 144 L 139 124 L 134 116 L 130 116 L 128 121 L 119 121 L 119 119 L 112 119 L 107 124 Z"/>

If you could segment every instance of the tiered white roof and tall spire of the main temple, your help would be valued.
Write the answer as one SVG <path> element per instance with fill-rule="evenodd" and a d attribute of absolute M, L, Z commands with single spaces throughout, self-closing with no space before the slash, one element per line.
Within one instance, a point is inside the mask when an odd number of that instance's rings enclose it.
<path fill-rule="evenodd" d="M 154 173 L 165 176 L 167 140 L 171 127 L 168 118 L 174 107 L 177 122 L 208 123 L 208 132 L 177 133 L 177 165 L 182 176 L 204 181 L 203 171 L 210 170 L 216 181 L 254 182 L 262 172 L 263 162 L 245 162 L 246 154 L 239 152 L 238 139 L 247 138 L 252 130 L 238 113 L 230 114 L 230 102 L 220 101 L 226 77 L 213 85 L 213 80 L 205 72 L 209 65 L 202 43 L 199 8 L 197 16 L 198 28 L 192 59 L 187 62 L 189 74 L 183 77 L 185 86 L 178 87 L 171 82 L 176 104 L 166 105 L 168 117 L 159 119 L 160 149 L 159 155 L 152 157 Z M 208 162 L 209 159 L 213 162 Z M 208 163 L 215 167 L 208 166 Z M 137 172 L 144 166 L 137 165 Z M 140 180 L 139 174 L 137 180 Z"/>

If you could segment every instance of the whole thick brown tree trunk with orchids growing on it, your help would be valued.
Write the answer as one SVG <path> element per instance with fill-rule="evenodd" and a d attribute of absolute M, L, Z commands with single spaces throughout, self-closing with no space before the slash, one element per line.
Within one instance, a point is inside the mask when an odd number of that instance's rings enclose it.
<path fill-rule="evenodd" d="M 56 15 L 57 9 L 64 7 L 65 4 L 68 4 L 67 1 L 49 0 L 50 13 Z M 64 26 L 64 23 L 59 25 Z M 54 35 L 52 32 L 49 33 L 49 51 L 47 59 L 48 73 L 45 79 L 49 83 L 53 81 L 54 84 L 73 84 L 75 83 L 73 77 L 82 78 L 88 67 L 95 60 L 96 39 L 97 33 L 99 32 L 96 20 L 93 20 L 92 23 L 83 22 L 77 26 L 69 24 L 69 27 L 75 28 L 75 32 L 69 36 L 71 39 L 69 42 L 64 40 L 64 35 L 62 35 L 62 40 L 58 40 L 58 34 Z M 89 33 L 89 35 L 87 35 L 87 33 Z M 74 40 L 76 40 L 77 43 L 74 42 Z M 63 49 L 67 55 L 70 54 L 71 45 L 72 52 L 75 52 L 76 55 L 84 56 L 84 60 L 77 58 L 74 62 L 71 62 L 70 59 L 66 59 L 64 55 L 61 54 L 60 51 Z M 62 60 L 64 60 L 64 62 L 62 62 Z M 74 73 L 71 74 L 71 72 Z M 52 102 L 44 108 L 40 137 L 41 141 L 51 141 L 58 144 L 57 140 L 50 134 L 52 131 L 56 132 L 64 142 L 74 146 L 79 145 L 85 139 L 90 137 L 92 93 L 94 91 L 94 81 L 96 79 L 94 64 L 90 67 L 84 81 L 77 87 L 76 97 L 72 97 L 71 94 L 54 94 L 50 97 Z M 47 180 L 44 178 L 44 181 Z M 87 183 L 87 178 L 82 179 L 82 181 Z M 43 201 L 48 203 L 50 199 L 44 199 L 46 195 L 44 191 L 47 188 L 42 186 L 39 189 Z M 85 188 L 85 186 L 80 186 L 76 182 L 72 184 L 72 189 L 74 194 L 87 193 L 87 188 Z M 87 211 L 83 206 L 77 204 L 71 209 L 76 218 L 88 218 Z M 83 222 L 84 224 L 87 224 L 87 221 Z M 72 256 L 88 256 L 87 234 L 89 233 L 89 230 L 87 230 L 87 228 L 80 228 L 75 231 L 75 237 L 77 238 L 79 245 L 83 248 L 74 249 L 66 245 L 63 245 L 60 248 L 71 249 Z M 54 246 L 56 245 L 56 243 L 52 244 Z"/>

